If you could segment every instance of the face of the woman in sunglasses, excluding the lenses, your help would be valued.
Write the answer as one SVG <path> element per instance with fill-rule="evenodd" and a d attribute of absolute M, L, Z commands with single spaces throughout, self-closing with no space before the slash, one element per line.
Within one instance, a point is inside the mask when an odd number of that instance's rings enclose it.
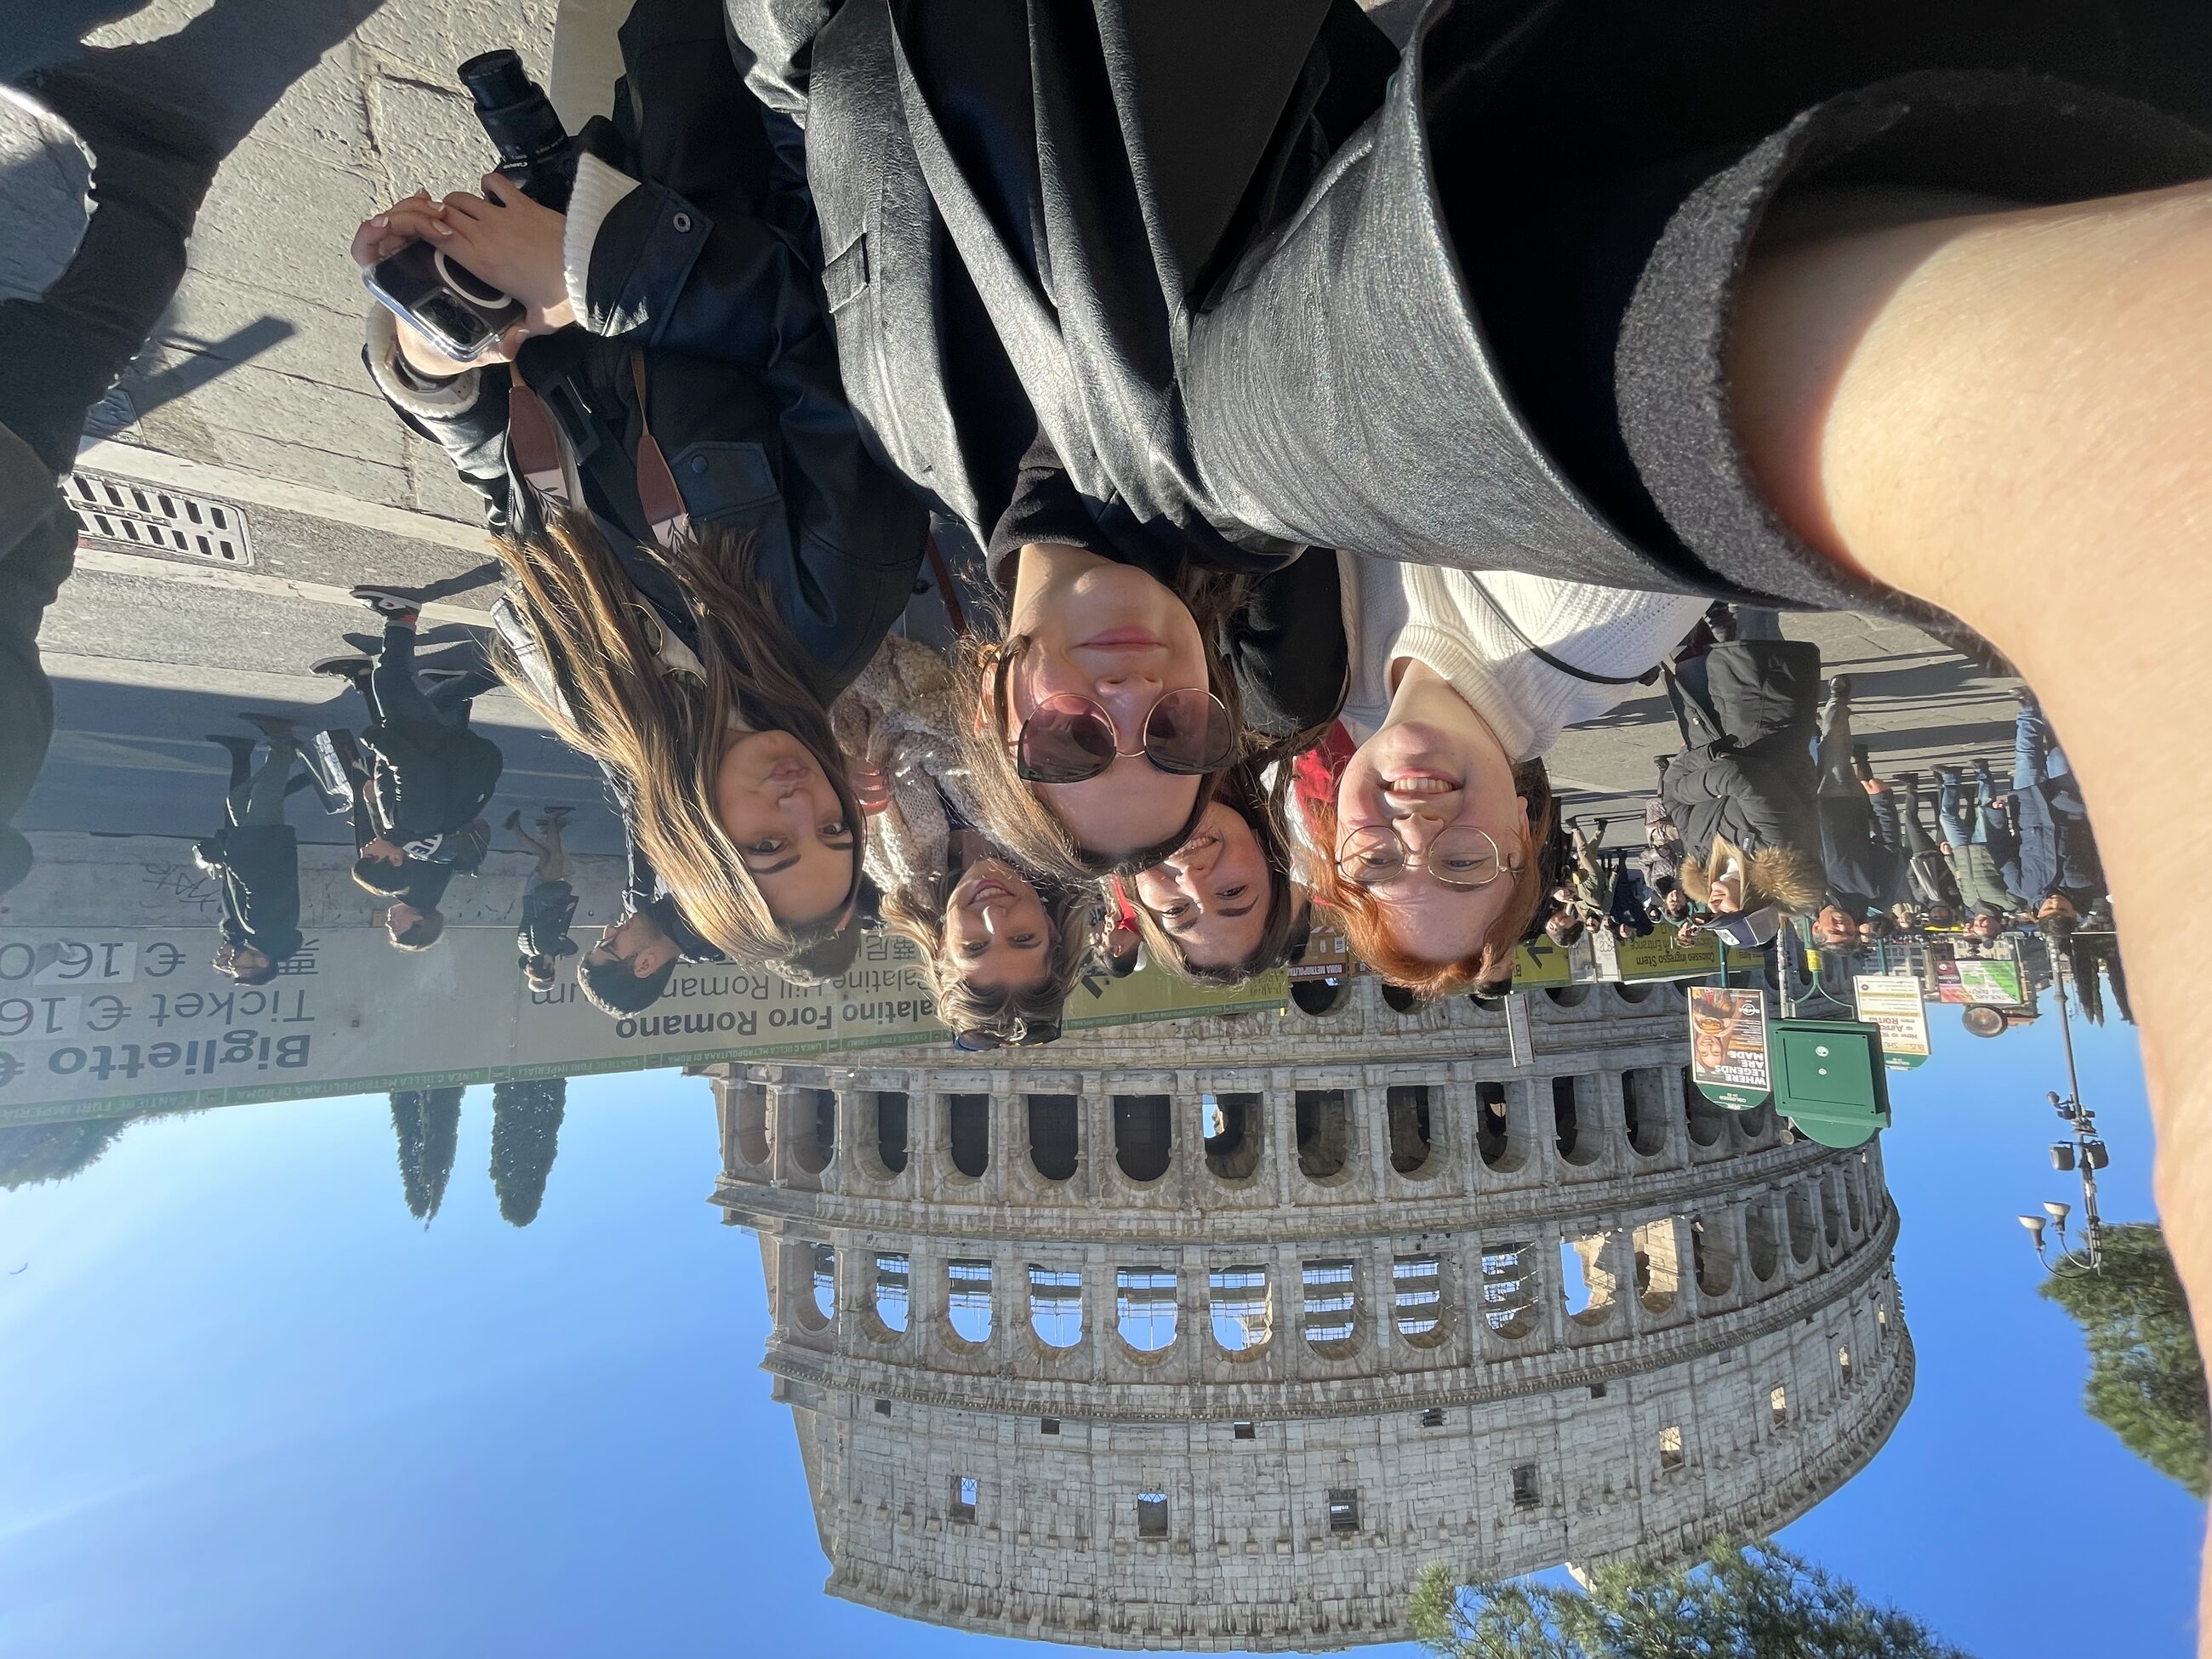
<path fill-rule="evenodd" d="M 1115 754 L 1082 783 L 1031 783 L 1091 854 L 1157 847 L 1190 821 L 1199 779 L 1144 759 L 1144 721 L 1172 690 L 1208 690 L 1206 646 L 1190 608 L 1128 564 L 1071 546 L 1024 546 L 1015 564 L 1009 639 L 1026 644 L 1006 670 L 1002 737 L 1020 737 L 1048 697 L 1088 697 L 1113 719 Z"/>

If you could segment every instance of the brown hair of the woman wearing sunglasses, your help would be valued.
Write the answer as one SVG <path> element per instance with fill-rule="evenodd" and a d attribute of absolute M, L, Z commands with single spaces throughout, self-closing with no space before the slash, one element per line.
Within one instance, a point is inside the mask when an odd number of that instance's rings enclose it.
<path fill-rule="evenodd" d="M 1221 706 L 1230 714 L 1230 730 L 1239 739 L 1237 750 L 1230 754 L 1230 765 L 1237 765 L 1239 754 L 1250 745 L 1250 737 L 1243 730 L 1243 692 L 1237 686 L 1234 670 L 1221 655 L 1221 633 L 1243 604 L 1245 586 L 1241 577 L 1197 566 L 1186 571 L 1177 584 L 1177 597 L 1199 624 L 1199 639 L 1206 648 L 1208 688 L 1221 699 Z M 1035 785 L 1024 783 L 1015 772 L 1013 748 L 1006 743 L 1006 710 L 993 697 L 1000 655 L 1020 653 L 1026 644 L 1022 635 L 1006 635 L 1004 608 L 989 604 L 975 617 L 975 626 L 960 635 L 953 648 L 953 706 L 960 710 L 956 730 L 960 757 L 969 772 L 969 787 L 975 792 L 975 810 L 982 816 L 980 827 L 1015 863 L 1060 887 L 1082 887 L 1102 876 L 1133 876 L 1139 869 L 1150 869 L 1181 847 L 1197 827 L 1208 801 L 1214 799 L 1214 785 L 1221 774 L 1208 772 L 1199 779 L 1199 794 L 1190 807 L 1190 816 L 1159 845 L 1137 847 L 1119 856 L 1097 854 L 1077 845 L 1068 827 L 1037 796 Z M 973 719 L 973 710 L 984 710 L 980 723 Z"/>

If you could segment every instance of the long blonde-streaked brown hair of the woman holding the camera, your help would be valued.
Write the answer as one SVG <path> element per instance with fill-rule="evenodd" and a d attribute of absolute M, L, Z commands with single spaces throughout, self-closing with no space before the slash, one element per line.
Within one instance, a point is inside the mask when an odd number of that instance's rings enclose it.
<path fill-rule="evenodd" d="M 560 509 L 542 529 L 500 538 L 498 551 L 509 597 L 562 697 L 542 692 L 504 641 L 493 650 L 500 679 L 564 743 L 613 772 L 630 832 L 684 918 L 739 962 L 787 958 L 836 933 L 849 894 L 830 920 L 785 927 L 714 814 L 714 774 L 732 717 L 752 730 L 790 732 L 821 761 L 845 810 L 854 834 L 849 891 L 858 891 L 860 803 L 821 692 L 805 679 L 807 655 L 754 571 L 752 538 L 710 526 L 666 553 L 639 549 L 675 577 L 699 626 L 703 681 L 661 659 L 664 624 L 588 513 Z"/>

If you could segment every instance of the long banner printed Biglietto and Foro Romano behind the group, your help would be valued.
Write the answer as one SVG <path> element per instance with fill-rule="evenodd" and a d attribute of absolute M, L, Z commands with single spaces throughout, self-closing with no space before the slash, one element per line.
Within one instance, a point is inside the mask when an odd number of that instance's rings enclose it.
<path fill-rule="evenodd" d="M 400 956 L 330 927 L 265 987 L 208 967 L 210 929 L 0 929 L 0 1124 L 580 1077 L 721 1060 L 942 1044 L 909 940 L 876 933 L 830 984 L 679 964 L 648 1011 L 611 1020 L 575 978 L 535 993 L 513 927 L 449 927 Z M 1283 975 L 1232 991 L 1144 971 L 1077 987 L 1066 1026 L 1281 1011 Z"/>

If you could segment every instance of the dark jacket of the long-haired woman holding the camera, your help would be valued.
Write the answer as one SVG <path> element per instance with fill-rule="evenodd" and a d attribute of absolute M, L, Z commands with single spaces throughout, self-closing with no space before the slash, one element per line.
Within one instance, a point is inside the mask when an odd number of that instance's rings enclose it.
<path fill-rule="evenodd" d="M 787 122 L 741 84 L 712 0 L 655 0 L 622 29 L 617 119 L 588 146 L 641 186 L 591 254 L 588 314 L 529 341 L 518 369 L 577 451 L 584 495 L 639 593 L 686 644 L 681 595 L 637 553 L 641 347 L 653 438 L 697 526 L 750 531 L 757 568 L 805 650 L 816 690 L 843 690 L 905 611 L 927 513 L 867 453 L 838 378 L 805 184 Z M 507 456 L 507 374 L 478 376 L 458 416 L 400 409 L 518 522 L 526 487 Z"/>

